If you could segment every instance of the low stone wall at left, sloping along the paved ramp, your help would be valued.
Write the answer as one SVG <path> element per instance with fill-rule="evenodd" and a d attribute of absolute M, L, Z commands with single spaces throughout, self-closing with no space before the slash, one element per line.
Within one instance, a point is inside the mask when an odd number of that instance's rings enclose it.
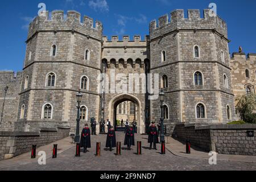
<path fill-rule="evenodd" d="M 10 159 L 37 147 L 69 136 L 69 128 L 41 129 L 40 132 L 0 132 L 0 160 Z"/>

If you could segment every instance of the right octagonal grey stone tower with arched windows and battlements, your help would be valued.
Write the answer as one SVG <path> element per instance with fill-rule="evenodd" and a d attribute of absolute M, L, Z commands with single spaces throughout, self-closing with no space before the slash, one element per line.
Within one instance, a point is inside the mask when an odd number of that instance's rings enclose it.
<path fill-rule="evenodd" d="M 204 10 L 174 10 L 150 23 L 151 73 L 164 88 L 166 123 L 226 123 L 235 115 L 226 23 Z M 151 101 L 160 117 L 159 101 Z M 168 124 L 167 124 L 168 125 Z"/>

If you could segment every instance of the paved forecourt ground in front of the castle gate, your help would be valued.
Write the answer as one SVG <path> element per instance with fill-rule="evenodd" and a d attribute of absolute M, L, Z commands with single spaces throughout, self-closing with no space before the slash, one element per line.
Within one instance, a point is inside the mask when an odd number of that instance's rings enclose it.
<path fill-rule="evenodd" d="M 142 155 L 137 155 L 136 146 L 133 150 L 126 150 L 122 146 L 122 155 L 116 156 L 115 150 L 110 152 L 105 148 L 106 135 L 92 136 L 92 148 L 86 154 L 81 152 L 81 157 L 76 158 L 75 146 L 69 148 L 57 156 L 57 159 L 47 159 L 46 165 L 39 165 L 37 159 L 33 163 L 19 165 L 15 167 L 2 168 L 1 170 L 86 170 L 86 171 L 169 171 L 169 170 L 256 170 L 256 163 L 228 162 L 217 160 L 217 165 L 210 165 L 208 159 L 191 159 L 173 155 L 166 151 L 166 155 L 160 155 L 158 150 L 149 150 L 147 135 L 136 135 L 135 140 L 142 141 Z M 117 132 L 117 141 L 123 144 L 124 134 Z M 101 142 L 101 156 L 95 156 L 96 142 Z M 59 146 L 61 148 L 61 146 Z M 18 158 L 17 158 L 18 159 Z M 1 163 L 1 162 L 0 162 Z"/>

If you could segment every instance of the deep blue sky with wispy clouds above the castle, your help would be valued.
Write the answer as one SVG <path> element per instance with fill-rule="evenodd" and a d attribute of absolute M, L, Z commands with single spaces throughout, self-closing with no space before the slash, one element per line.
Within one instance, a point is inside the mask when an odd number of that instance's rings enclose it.
<path fill-rule="evenodd" d="M 242 46 L 245 53 L 256 53 L 256 1 L 254 0 L 9 0 L 0 6 L 0 70 L 22 71 L 28 23 L 37 15 L 38 4 L 48 11 L 76 10 L 104 24 L 104 35 L 148 35 L 152 19 L 174 9 L 207 9 L 216 3 L 217 14 L 228 24 L 230 53 Z M 186 14 L 186 13 L 185 13 Z"/>

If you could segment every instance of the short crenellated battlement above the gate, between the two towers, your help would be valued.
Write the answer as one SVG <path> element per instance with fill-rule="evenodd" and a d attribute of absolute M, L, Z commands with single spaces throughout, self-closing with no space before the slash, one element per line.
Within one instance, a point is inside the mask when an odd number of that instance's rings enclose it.
<path fill-rule="evenodd" d="M 102 40 L 104 42 L 147 42 L 149 40 L 149 36 L 144 36 L 144 40 L 141 39 L 141 35 L 134 35 L 133 40 L 130 39 L 129 35 L 122 36 L 122 40 L 119 40 L 117 35 L 111 36 L 111 39 L 108 39 L 108 36 L 103 36 Z"/>

